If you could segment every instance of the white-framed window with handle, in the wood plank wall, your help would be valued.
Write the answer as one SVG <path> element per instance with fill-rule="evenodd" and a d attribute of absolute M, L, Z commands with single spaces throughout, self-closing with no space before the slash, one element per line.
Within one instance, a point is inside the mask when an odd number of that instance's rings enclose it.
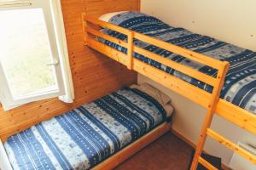
<path fill-rule="evenodd" d="M 0 99 L 4 110 L 73 91 L 58 5 L 56 0 L 0 0 Z"/>

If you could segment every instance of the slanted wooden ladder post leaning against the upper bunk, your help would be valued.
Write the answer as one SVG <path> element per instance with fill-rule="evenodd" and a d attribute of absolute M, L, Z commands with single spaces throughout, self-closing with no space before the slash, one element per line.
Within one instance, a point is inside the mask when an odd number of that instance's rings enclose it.
<path fill-rule="evenodd" d="M 213 167 L 210 163 L 208 163 L 206 160 L 201 158 L 201 152 L 203 150 L 203 146 L 207 139 L 207 130 L 209 127 L 211 127 L 212 118 L 213 118 L 213 115 L 216 111 L 216 107 L 218 104 L 219 94 L 223 88 L 224 78 L 226 76 L 227 71 L 229 70 L 229 66 L 230 66 L 230 64 L 228 62 L 224 62 L 224 67 L 219 68 L 219 70 L 218 70 L 218 75 L 217 75 L 218 81 L 216 81 L 216 83 L 213 87 L 213 90 L 212 90 L 212 99 L 207 108 L 207 115 L 205 117 L 205 122 L 201 129 L 201 134 L 200 134 L 200 137 L 198 140 L 198 144 L 196 145 L 195 156 L 192 161 L 190 170 L 196 170 L 198 162 L 203 164 L 205 167 L 208 167 L 209 169 L 217 169 L 217 168 Z"/>

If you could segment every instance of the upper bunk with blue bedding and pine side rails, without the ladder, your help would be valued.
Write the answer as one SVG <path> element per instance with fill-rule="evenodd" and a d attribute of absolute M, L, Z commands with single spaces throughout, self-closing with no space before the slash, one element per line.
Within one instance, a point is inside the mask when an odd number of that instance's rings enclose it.
<path fill-rule="evenodd" d="M 116 14 L 105 21 L 83 14 L 83 24 L 85 45 L 204 108 L 211 107 L 214 88 L 222 88 L 217 114 L 256 133 L 253 51 L 139 12 Z"/>

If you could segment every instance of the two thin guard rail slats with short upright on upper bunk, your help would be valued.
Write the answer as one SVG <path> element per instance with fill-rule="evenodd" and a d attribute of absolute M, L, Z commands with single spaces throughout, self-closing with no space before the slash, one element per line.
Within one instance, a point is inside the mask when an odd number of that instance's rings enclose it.
<path fill-rule="evenodd" d="M 127 48 L 128 53 L 125 55 L 128 55 L 128 59 L 127 59 L 127 57 L 125 57 L 125 59 L 126 59 L 125 64 L 130 69 L 133 66 L 132 61 L 135 59 L 135 58 L 133 58 L 132 53 L 136 52 L 137 54 L 142 54 L 144 56 L 147 56 L 148 59 L 154 59 L 155 61 L 158 61 L 158 62 L 162 63 L 163 65 L 170 66 L 173 69 L 175 69 L 176 71 L 183 72 L 184 74 L 188 75 L 189 77 L 194 77 L 197 80 L 200 80 L 201 82 L 206 82 L 207 84 L 211 85 L 212 87 L 216 86 L 216 80 L 218 79 L 217 77 L 216 78 L 210 77 L 207 74 L 202 73 L 201 71 L 196 71 L 194 69 L 189 68 L 188 66 L 181 65 L 175 61 L 172 61 L 171 59 L 163 58 L 162 56 L 160 56 L 158 54 L 154 54 L 154 53 L 147 51 L 143 48 L 139 48 L 133 44 L 134 38 L 141 40 L 143 42 L 147 42 L 148 44 L 154 44 L 155 46 L 158 46 L 160 48 L 171 51 L 172 53 L 182 55 L 183 57 L 192 59 L 192 60 L 199 62 L 203 65 L 209 65 L 212 68 L 215 68 L 217 70 L 221 70 L 221 68 L 224 68 L 225 65 L 228 65 L 228 62 L 219 61 L 217 59 L 212 59 L 205 55 L 197 54 L 193 51 L 190 51 L 189 49 L 180 48 L 180 47 L 178 47 L 176 45 L 172 45 L 168 42 L 163 42 L 163 41 L 160 41 L 153 37 L 148 37 L 143 34 L 137 33 L 135 31 L 127 30 L 123 27 L 111 25 L 107 22 L 104 22 L 102 20 L 97 20 L 96 18 L 93 18 L 93 17 L 86 17 L 85 20 L 87 23 L 89 22 L 89 23 L 95 24 L 97 26 L 102 26 L 102 27 L 108 28 L 113 31 L 118 31 L 128 37 L 128 42 L 125 42 L 125 41 L 119 40 L 116 37 L 108 36 L 107 34 L 104 34 L 101 31 L 96 31 L 92 27 L 88 26 L 88 24 L 86 24 L 86 26 L 84 27 L 84 31 L 86 31 L 87 33 L 89 33 L 91 35 L 94 35 L 96 37 L 102 37 L 103 39 L 106 39 L 110 42 L 114 42 L 114 43 L 118 44 L 119 46 Z M 88 37 L 88 35 L 86 35 L 86 37 L 84 37 L 84 42 L 87 42 L 86 44 L 88 44 L 88 39 L 90 39 L 90 37 Z"/>

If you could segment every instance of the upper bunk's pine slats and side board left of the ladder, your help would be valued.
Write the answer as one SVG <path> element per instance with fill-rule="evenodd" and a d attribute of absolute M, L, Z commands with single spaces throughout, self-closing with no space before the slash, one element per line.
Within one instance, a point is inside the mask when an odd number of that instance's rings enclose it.
<path fill-rule="evenodd" d="M 96 49 L 96 51 L 107 55 L 111 59 L 114 59 L 123 65 L 126 65 L 129 69 L 137 71 L 144 76 L 153 79 L 156 82 L 160 82 L 167 88 L 172 88 L 172 90 L 176 91 L 178 94 L 182 94 L 183 96 L 191 99 L 195 103 L 205 108 L 208 108 L 209 101 L 212 98 L 212 94 L 209 94 L 205 90 L 189 84 L 189 82 L 184 82 L 182 79 L 174 77 L 166 73 L 165 71 L 161 71 L 160 69 L 157 69 L 152 65 L 148 65 L 143 61 L 134 58 L 132 54 L 137 53 L 147 56 L 148 59 L 154 59 L 155 61 L 158 61 L 166 66 L 170 66 L 173 69 L 180 71 L 185 75 L 188 75 L 189 77 L 193 77 L 197 80 L 200 80 L 201 82 L 205 82 L 212 87 L 218 86 L 220 77 L 224 73 L 225 68 L 229 65 L 227 62 L 212 59 L 202 54 L 196 54 L 195 52 L 188 49 L 180 48 L 170 43 L 163 42 L 158 39 L 137 33 L 135 31 L 130 31 L 123 27 L 109 24 L 94 17 L 85 17 L 84 14 L 83 16 L 84 45 Z M 125 42 L 116 37 L 111 37 L 107 34 L 104 34 L 101 31 L 102 27 L 108 28 L 113 31 L 118 31 L 126 35 L 128 37 L 128 41 Z M 102 37 L 109 42 L 114 42 L 119 46 L 127 48 L 127 54 L 98 41 L 96 37 Z M 154 54 L 148 50 L 139 48 L 133 44 L 134 39 L 138 39 L 149 44 L 154 44 L 155 46 L 159 46 L 160 48 L 164 48 L 173 53 L 183 55 L 188 59 L 195 60 L 196 62 L 202 63 L 204 65 L 209 65 L 212 68 L 218 70 L 218 77 L 210 77 L 207 74 L 202 73 L 201 71 L 196 71 L 190 68 L 189 66 L 182 65 L 175 61 L 172 61 L 171 59 L 166 59 L 158 54 Z"/>

